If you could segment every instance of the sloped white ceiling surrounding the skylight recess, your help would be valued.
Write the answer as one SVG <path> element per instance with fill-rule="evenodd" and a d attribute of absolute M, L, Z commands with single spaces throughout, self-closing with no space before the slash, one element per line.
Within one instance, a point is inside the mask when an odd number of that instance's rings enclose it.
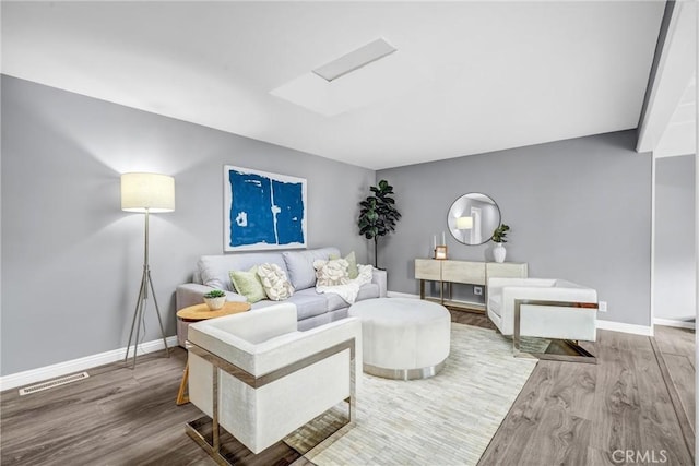
<path fill-rule="evenodd" d="M 2 72 L 380 169 L 636 128 L 663 10 L 3 1 Z M 422 76 L 416 85 L 331 117 L 270 94 L 379 37 Z"/>

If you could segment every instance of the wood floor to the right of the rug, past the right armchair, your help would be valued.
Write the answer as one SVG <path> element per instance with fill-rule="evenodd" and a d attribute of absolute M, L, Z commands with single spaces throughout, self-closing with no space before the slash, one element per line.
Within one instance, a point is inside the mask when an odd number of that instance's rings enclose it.
<path fill-rule="evenodd" d="M 453 321 L 493 327 L 484 314 L 451 312 Z M 538 361 L 478 464 L 694 465 L 694 332 L 656 327 L 649 338 L 599 331 L 583 346 L 597 365 Z"/>

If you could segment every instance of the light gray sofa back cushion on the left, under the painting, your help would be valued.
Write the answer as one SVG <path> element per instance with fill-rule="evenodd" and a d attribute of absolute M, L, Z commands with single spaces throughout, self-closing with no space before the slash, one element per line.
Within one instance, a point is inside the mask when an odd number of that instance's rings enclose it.
<path fill-rule="evenodd" d="M 235 291 L 230 283 L 232 271 L 249 271 L 254 265 L 276 264 L 286 271 L 280 252 L 250 252 L 236 254 L 202 255 L 197 262 L 201 283 L 212 288 Z"/>

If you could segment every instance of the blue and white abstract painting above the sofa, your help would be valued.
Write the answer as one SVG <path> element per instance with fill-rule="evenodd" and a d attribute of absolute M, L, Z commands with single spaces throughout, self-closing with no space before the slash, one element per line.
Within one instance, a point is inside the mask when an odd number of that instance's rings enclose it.
<path fill-rule="evenodd" d="M 224 166 L 224 251 L 306 248 L 306 180 Z"/>

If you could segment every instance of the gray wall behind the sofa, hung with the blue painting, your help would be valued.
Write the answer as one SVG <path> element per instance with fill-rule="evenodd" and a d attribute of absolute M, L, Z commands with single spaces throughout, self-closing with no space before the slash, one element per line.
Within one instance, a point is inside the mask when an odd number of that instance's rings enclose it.
<path fill-rule="evenodd" d="M 166 334 L 175 287 L 223 252 L 223 165 L 308 180 L 309 248 L 367 261 L 358 202 L 372 170 L 2 76 L 1 373 L 125 347 L 143 264 L 143 216 L 121 212 L 119 175 L 175 177 L 176 211 L 151 217 Z M 38 295 L 40 301 L 25 298 Z M 143 340 L 159 337 L 152 303 Z"/>

